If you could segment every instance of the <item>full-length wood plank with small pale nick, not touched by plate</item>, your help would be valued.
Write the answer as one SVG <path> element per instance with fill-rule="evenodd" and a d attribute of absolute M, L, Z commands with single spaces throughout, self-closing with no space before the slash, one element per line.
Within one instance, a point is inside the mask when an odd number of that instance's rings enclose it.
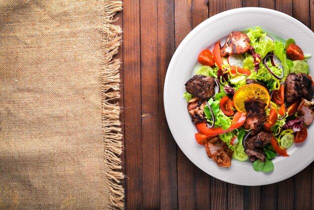
<path fill-rule="evenodd" d="M 159 124 L 157 32 L 157 2 L 142 1 L 140 63 L 144 209 L 160 209 L 159 127 L 156 126 Z"/>

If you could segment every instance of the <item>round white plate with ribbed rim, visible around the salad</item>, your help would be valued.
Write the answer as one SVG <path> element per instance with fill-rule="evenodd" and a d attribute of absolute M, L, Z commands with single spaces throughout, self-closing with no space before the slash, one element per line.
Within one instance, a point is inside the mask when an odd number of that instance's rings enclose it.
<path fill-rule="evenodd" d="M 262 8 L 240 8 L 215 15 L 191 31 L 176 50 L 168 67 L 164 105 L 167 121 L 177 144 L 184 154 L 200 169 L 220 180 L 240 185 L 264 185 L 293 176 L 314 160 L 314 126 L 308 127 L 307 139 L 288 149 L 290 157 L 276 156 L 274 170 L 256 172 L 249 161 L 232 160 L 230 168 L 218 167 L 206 155 L 205 147 L 199 145 L 194 134 L 195 125 L 187 111 L 183 98 L 185 82 L 194 75 L 199 53 L 213 49 L 217 41 L 225 40 L 232 31 L 244 31 L 259 26 L 265 32 L 283 39 L 293 38 L 304 53 L 314 55 L 314 34 L 301 22 L 283 13 Z M 313 72 L 314 59 L 308 60 Z"/>

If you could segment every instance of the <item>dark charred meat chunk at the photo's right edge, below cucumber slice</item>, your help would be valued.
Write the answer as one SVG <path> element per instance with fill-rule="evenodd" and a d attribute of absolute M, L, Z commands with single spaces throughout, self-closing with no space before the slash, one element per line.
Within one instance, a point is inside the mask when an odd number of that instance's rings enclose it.
<path fill-rule="evenodd" d="M 307 100 L 312 99 L 314 86 L 310 78 L 304 73 L 289 73 L 285 79 L 284 100 L 287 104 L 293 103 L 296 99 L 303 97 Z"/>

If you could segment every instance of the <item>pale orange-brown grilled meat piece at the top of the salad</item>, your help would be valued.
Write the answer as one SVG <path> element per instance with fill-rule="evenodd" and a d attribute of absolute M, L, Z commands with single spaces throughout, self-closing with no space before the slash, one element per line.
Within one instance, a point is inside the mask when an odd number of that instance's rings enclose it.
<path fill-rule="evenodd" d="M 250 49 L 250 39 L 246 34 L 233 31 L 220 50 L 221 56 L 243 54 Z"/>

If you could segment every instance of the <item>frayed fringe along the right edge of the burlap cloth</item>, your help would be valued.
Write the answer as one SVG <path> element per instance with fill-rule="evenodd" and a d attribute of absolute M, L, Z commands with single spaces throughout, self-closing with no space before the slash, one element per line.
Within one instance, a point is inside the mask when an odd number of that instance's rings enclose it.
<path fill-rule="evenodd" d="M 101 105 L 102 105 L 102 135 L 105 153 L 105 174 L 109 186 L 110 208 L 124 208 L 124 189 L 120 180 L 124 178 L 121 172 L 122 134 L 120 128 L 119 83 L 120 61 L 113 58 L 121 44 L 121 29 L 113 25 L 113 16 L 122 10 L 121 1 L 105 1 L 102 27 L 102 74 L 101 74 Z"/>

